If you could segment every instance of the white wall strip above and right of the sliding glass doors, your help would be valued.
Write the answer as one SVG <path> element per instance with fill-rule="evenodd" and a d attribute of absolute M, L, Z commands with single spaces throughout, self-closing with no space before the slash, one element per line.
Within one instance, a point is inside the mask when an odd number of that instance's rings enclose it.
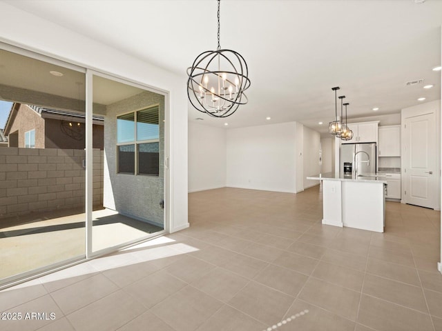
<path fill-rule="evenodd" d="M 170 138 L 169 230 L 189 226 L 185 73 L 177 76 L 8 3 L 0 2 L 0 12 L 0 41 L 169 92 L 170 100 L 166 101 L 171 112 L 170 118 L 166 118 Z"/>

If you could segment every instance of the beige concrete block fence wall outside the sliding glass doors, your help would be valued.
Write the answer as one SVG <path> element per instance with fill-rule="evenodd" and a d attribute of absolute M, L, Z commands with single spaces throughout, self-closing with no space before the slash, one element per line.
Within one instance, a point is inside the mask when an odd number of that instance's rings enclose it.
<path fill-rule="evenodd" d="M 85 204 L 85 150 L 0 148 L 1 219 Z M 104 153 L 93 150 L 93 204 L 103 205 Z"/>

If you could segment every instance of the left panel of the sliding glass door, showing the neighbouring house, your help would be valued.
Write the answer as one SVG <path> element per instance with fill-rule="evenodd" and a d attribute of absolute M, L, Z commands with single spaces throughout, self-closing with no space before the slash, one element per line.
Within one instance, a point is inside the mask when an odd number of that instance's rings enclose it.
<path fill-rule="evenodd" d="M 1 285 L 85 257 L 86 76 L 8 50 L 0 59 Z"/>

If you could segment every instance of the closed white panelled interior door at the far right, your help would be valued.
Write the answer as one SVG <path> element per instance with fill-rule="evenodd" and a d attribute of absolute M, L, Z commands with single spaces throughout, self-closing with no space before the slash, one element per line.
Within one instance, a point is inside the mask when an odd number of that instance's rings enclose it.
<path fill-rule="evenodd" d="M 436 208 L 436 115 L 405 119 L 405 203 Z"/>

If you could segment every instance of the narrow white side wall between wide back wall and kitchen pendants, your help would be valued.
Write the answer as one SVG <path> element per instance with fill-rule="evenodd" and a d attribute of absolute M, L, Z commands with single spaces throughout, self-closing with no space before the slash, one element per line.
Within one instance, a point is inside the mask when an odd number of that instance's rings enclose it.
<path fill-rule="evenodd" d="M 302 160 L 303 171 L 302 179 L 304 189 L 311 188 L 311 186 L 318 185 L 319 181 L 312 181 L 307 179 L 309 176 L 320 173 L 319 164 L 319 150 L 320 150 L 320 134 L 311 128 L 304 127 L 304 134 L 302 134 L 302 149 L 304 150 L 304 159 Z"/>

